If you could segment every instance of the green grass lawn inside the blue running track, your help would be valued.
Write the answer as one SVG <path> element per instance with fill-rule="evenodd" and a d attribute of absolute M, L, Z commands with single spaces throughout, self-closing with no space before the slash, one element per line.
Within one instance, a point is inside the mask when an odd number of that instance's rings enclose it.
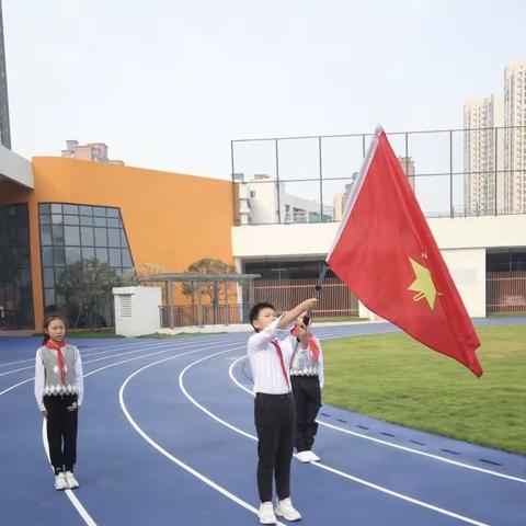
<path fill-rule="evenodd" d="M 478 379 L 405 334 L 323 343 L 323 399 L 398 424 L 526 455 L 526 324 L 481 327 Z"/>

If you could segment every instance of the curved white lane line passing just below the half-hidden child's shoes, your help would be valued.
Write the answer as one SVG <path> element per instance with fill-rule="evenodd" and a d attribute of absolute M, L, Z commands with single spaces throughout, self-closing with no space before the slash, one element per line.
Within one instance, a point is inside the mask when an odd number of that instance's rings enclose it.
<path fill-rule="evenodd" d="M 179 375 L 179 385 L 181 387 L 181 390 L 183 391 L 184 396 L 198 409 L 201 409 L 202 411 L 204 411 L 208 416 L 210 416 L 213 420 L 215 420 L 216 422 L 225 425 L 226 427 L 239 433 L 240 435 L 243 435 L 245 437 L 249 437 L 253 441 L 258 441 L 258 437 L 255 437 L 254 435 L 251 435 L 249 433 L 245 433 L 244 431 L 240 430 L 239 427 L 236 427 L 235 425 L 226 422 L 225 420 L 220 419 L 219 416 L 217 416 L 216 414 L 211 413 L 210 411 L 208 411 L 207 409 L 205 409 L 201 403 L 198 403 L 187 391 L 186 389 L 184 388 L 184 382 L 183 382 L 183 378 L 184 378 L 184 375 L 186 374 L 186 371 L 194 367 L 195 365 L 206 361 L 206 359 L 210 359 L 213 358 L 214 356 L 218 356 L 220 354 L 225 354 L 227 351 L 221 351 L 219 353 L 214 353 L 214 354 L 210 354 L 208 356 L 205 356 L 204 358 L 199 358 L 199 359 L 196 359 L 195 362 L 192 362 L 191 364 L 188 364 L 182 371 L 181 374 Z M 231 351 L 228 351 L 228 352 L 231 352 Z M 151 364 L 153 365 L 153 364 Z M 388 488 L 384 488 L 382 485 L 377 485 L 377 484 L 374 484 L 373 482 L 369 482 L 367 480 L 364 480 L 364 479 L 359 479 L 358 477 L 354 477 L 352 474 L 348 474 L 344 471 L 340 471 L 338 469 L 334 469 L 334 468 L 331 468 L 330 466 L 327 466 L 324 464 L 321 464 L 321 462 L 311 462 L 312 466 L 316 466 L 318 468 L 321 468 L 321 469 L 324 469 L 327 471 L 331 471 L 335 474 L 339 474 L 340 477 L 343 477 L 345 479 L 348 479 L 348 480 L 352 480 L 354 482 L 357 482 L 359 484 L 363 484 L 363 485 L 366 485 L 368 488 L 371 488 L 376 491 L 380 491 L 382 493 L 386 493 L 388 495 L 391 495 L 391 496 L 396 496 L 397 499 L 401 499 L 402 501 L 405 501 L 405 502 L 410 502 L 411 504 L 415 504 L 418 506 L 421 506 L 421 507 L 425 507 L 427 510 L 432 510 L 434 512 L 437 512 L 437 513 L 441 513 L 443 515 L 447 515 L 449 517 L 454 517 L 454 518 L 457 518 L 458 521 L 461 521 L 464 523 L 467 523 L 467 524 L 472 524 L 474 526 L 489 526 L 487 523 L 481 523 L 479 521 L 474 521 L 470 517 L 466 517 L 464 515 L 460 515 L 458 513 L 454 513 L 454 512 L 450 512 L 449 510 L 445 510 L 443 507 L 438 507 L 438 506 L 435 506 L 433 504 L 428 504 L 427 502 L 424 502 L 424 501 L 419 501 L 418 499 L 413 499 L 409 495 L 405 495 L 403 493 L 398 493 L 396 491 L 392 491 L 392 490 L 389 490 Z"/>

